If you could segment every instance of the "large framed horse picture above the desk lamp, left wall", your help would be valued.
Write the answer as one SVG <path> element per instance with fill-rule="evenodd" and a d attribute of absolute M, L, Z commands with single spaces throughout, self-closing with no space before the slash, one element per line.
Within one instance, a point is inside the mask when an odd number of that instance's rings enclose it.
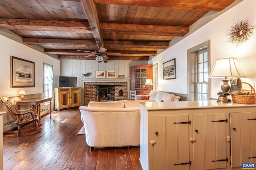
<path fill-rule="evenodd" d="M 35 63 L 11 56 L 11 88 L 35 86 Z"/>

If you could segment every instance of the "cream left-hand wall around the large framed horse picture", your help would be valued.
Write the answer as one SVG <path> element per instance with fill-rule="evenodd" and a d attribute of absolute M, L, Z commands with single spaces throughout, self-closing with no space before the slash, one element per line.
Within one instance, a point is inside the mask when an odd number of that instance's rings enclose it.
<path fill-rule="evenodd" d="M 58 85 L 58 75 L 60 75 L 60 61 L 44 54 L 42 48 L 33 47 L 22 43 L 22 37 L 8 31 L 0 30 L 0 96 L 14 97 L 20 100 L 19 90 L 25 90 L 26 96 L 42 94 L 44 92 L 44 67 L 43 63 L 53 65 L 54 86 Z M 35 49 L 34 49 L 35 48 Z M 36 50 L 39 49 L 40 51 Z M 11 88 L 11 57 L 18 57 L 35 63 L 35 87 Z M 19 96 L 15 98 L 15 96 Z M 13 100 L 13 101 L 14 101 Z M 52 107 L 54 109 L 54 107 Z M 0 102 L 0 111 L 7 111 Z M 10 121 L 8 115 L 3 115 L 4 123 Z M 9 119 L 9 120 L 8 120 Z"/>

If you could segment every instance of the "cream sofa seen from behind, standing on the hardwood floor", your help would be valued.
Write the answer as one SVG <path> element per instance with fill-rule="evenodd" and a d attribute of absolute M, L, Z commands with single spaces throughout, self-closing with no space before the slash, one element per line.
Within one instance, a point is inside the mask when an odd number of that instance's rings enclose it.
<path fill-rule="evenodd" d="M 94 147 L 123 147 L 140 145 L 140 110 L 138 102 L 155 100 L 122 100 L 90 102 L 80 106 L 86 143 Z"/>

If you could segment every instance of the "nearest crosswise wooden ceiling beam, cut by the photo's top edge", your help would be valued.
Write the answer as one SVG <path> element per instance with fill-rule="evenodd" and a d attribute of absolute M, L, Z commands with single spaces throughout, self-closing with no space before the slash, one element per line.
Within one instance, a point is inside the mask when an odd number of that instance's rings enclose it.
<path fill-rule="evenodd" d="M 235 2 L 235 0 L 94 0 L 94 2 L 98 4 L 221 11 L 233 2 Z"/>

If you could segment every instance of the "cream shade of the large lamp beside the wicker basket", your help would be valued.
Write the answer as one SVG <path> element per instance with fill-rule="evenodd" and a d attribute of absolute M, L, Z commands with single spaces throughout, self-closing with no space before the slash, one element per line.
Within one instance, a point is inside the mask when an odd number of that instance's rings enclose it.
<path fill-rule="evenodd" d="M 215 60 L 208 77 L 245 77 L 236 58 Z"/>

